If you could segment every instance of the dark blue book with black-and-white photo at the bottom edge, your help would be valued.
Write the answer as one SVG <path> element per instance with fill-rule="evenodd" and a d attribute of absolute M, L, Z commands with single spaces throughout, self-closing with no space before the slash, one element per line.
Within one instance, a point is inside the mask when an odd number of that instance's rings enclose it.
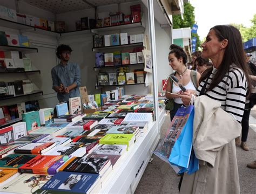
<path fill-rule="evenodd" d="M 42 189 L 87 193 L 99 175 L 60 171 L 44 184 Z"/>

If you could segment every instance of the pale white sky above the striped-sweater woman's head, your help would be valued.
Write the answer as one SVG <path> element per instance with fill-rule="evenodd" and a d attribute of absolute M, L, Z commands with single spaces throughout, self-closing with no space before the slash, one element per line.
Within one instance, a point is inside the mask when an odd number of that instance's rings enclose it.
<path fill-rule="evenodd" d="M 256 0 L 190 0 L 190 3 L 194 6 L 200 39 L 207 36 L 211 27 L 219 24 L 250 27 L 256 14 Z"/>

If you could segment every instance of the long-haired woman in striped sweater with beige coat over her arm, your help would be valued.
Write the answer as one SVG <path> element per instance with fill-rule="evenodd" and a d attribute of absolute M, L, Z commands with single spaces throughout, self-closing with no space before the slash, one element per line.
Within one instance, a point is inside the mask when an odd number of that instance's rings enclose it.
<path fill-rule="evenodd" d="M 210 58 L 213 67 L 206 70 L 201 77 L 197 96 L 206 95 L 208 98 L 220 102 L 220 108 L 231 114 L 231 117 L 221 118 L 220 122 L 224 123 L 225 120 L 233 122 L 234 118 L 237 120 L 239 128 L 239 123 L 244 115 L 245 101 L 251 91 L 241 34 L 234 26 L 217 25 L 210 29 L 201 46 L 203 47 L 201 57 Z M 188 105 L 191 98 L 192 94 L 190 93 L 181 94 L 185 105 Z M 232 128 L 222 129 L 221 126 L 217 128 L 215 129 L 218 133 L 216 136 L 219 136 L 221 130 L 225 130 L 221 139 L 215 141 L 212 133 L 213 141 L 205 142 L 204 137 L 200 139 L 202 144 L 205 143 L 205 154 L 202 156 L 204 160 L 199 161 L 199 172 L 196 172 L 196 174 L 201 173 L 199 175 L 201 178 L 192 180 L 193 175 L 184 174 L 180 193 L 193 193 L 192 191 L 195 190 L 197 190 L 196 193 L 240 193 L 235 141 L 234 139 L 230 140 L 235 138 L 236 134 Z M 199 130 L 204 129 L 200 128 Z M 208 133 L 208 135 L 210 134 Z M 194 151 L 197 155 L 199 150 Z M 206 162 L 212 156 L 213 165 Z M 196 188 L 196 186 L 200 188 Z"/>

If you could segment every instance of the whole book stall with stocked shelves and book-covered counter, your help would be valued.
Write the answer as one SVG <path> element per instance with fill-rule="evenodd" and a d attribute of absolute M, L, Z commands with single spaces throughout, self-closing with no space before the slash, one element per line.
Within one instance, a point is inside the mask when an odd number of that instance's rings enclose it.
<path fill-rule="evenodd" d="M 134 193 L 166 115 L 158 91 L 172 40 L 163 7 L 0 5 L 1 193 Z M 51 79 L 61 44 L 72 48 L 82 80 L 80 96 L 63 102 Z"/>

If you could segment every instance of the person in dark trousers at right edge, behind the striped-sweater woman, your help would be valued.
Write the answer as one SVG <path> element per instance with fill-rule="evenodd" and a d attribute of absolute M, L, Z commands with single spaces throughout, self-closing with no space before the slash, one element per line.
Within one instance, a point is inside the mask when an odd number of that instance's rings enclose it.
<path fill-rule="evenodd" d="M 243 150 L 249 151 L 249 147 L 247 145 L 247 137 L 248 137 L 248 132 L 249 132 L 249 118 L 250 118 L 250 112 L 251 108 L 255 105 L 255 100 L 256 100 L 256 91 L 254 87 L 256 86 L 256 68 L 255 65 L 250 61 L 252 54 L 246 53 L 246 63 L 248 67 L 251 70 L 251 82 L 252 82 L 252 91 L 251 91 L 251 96 L 250 99 L 246 100 L 245 103 L 245 112 L 244 116 L 242 116 L 242 135 L 241 139 L 240 137 L 235 138 L 235 145 L 240 146 Z"/>

